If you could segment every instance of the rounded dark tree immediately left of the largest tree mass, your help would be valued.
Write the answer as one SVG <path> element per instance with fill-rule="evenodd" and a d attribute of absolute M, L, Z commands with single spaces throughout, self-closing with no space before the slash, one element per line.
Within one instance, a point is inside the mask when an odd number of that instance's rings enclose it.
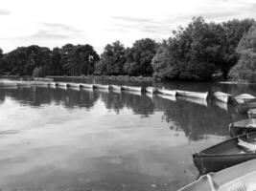
<path fill-rule="evenodd" d="M 129 75 L 151 75 L 151 60 L 156 48 L 157 44 L 150 38 L 135 41 L 132 47 L 127 49 L 125 72 Z"/>

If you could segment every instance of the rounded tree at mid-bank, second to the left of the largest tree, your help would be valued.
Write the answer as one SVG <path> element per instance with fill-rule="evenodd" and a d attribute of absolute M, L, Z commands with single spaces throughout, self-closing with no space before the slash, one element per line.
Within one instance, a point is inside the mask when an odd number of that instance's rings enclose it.
<path fill-rule="evenodd" d="M 124 74 L 124 64 L 126 62 L 126 49 L 119 41 L 105 46 L 104 53 L 101 55 L 106 74 Z M 99 63 L 100 64 L 100 63 Z"/>

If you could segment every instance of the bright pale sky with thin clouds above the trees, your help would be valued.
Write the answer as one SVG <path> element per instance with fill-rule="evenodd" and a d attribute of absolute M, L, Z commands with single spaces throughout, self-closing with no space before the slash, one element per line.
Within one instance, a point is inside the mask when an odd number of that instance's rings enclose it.
<path fill-rule="evenodd" d="M 256 0 L 0 0 L 0 48 L 90 44 L 102 53 L 150 37 L 161 41 L 193 16 L 206 21 L 256 18 Z"/>

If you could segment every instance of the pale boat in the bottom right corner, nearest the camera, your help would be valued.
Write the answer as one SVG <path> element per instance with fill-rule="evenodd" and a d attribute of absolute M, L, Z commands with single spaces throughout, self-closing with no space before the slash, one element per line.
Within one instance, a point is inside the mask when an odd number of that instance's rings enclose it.
<path fill-rule="evenodd" d="M 200 177 L 178 191 L 245 191 L 255 190 L 256 159 Z M 251 188 L 251 189 L 248 189 Z"/>

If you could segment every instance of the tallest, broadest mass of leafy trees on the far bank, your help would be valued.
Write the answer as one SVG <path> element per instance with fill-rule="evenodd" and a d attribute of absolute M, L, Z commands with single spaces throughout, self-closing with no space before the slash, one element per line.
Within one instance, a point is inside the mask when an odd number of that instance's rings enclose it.
<path fill-rule="evenodd" d="M 154 55 L 154 76 L 206 80 L 221 72 L 225 77 L 237 62 L 234 44 L 253 23 L 254 20 L 245 19 L 216 24 L 206 23 L 202 17 L 194 18 L 186 28 L 179 27 Z"/>

